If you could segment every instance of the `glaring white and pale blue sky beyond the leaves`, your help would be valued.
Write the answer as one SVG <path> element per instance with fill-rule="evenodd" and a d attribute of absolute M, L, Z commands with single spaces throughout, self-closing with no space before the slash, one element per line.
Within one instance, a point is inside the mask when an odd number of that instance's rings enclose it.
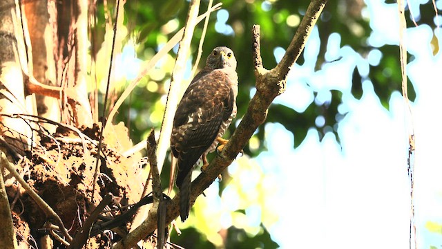
<path fill-rule="evenodd" d="M 316 130 L 311 129 L 301 145 L 294 148 L 296 134 L 281 124 L 261 127 L 265 129 L 269 150 L 250 160 L 246 156 L 238 158 L 229 167 L 234 177 L 221 199 L 219 184 L 214 183 L 206 190 L 206 197 L 195 203 L 196 212 L 213 217 L 204 223 L 206 227 L 200 228 L 215 231 L 213 237 L 206 233 L 209 240 L 222 243 L 216 231 L 231 225 L 247 224 L 247 232 L 257 233 L 262 222 L 281 248 L 409 248 L 407 156 L 408 135 L 414 130 L 417 246 L 442 248 L 441 232 L 430 232 L 426 225 L 429 221 L 442 224 L 442 55 L 432 55 L 431 28 L 422 25 L 408 28 L 405 33 L 407 50 L 414 56 L 407 65 L 416 91 L 416 100 L 411 103 L 412 116 L 399 92 L 391 95 L 389 109 L 385 109 L 369 80 L 362 82 L 360 100 L 351 93 L 354 67 L 367 76 L 369 66 L 377 66 L 381 60 L 382 53 L 377 48 L 398 45 L 397 6 L 383 2 L 365 0 L 363 16 L 370 20 L 372 28 L 367 42 L 373 47 L 367 57 L 342 44 L 338 33 L 320 41 L 320 30 L 315 28 L 305 46 L 304 64 L 292 68 L 287 90 L 275 100 L 301 116 L 312 102 L 329 102 L 330 90 L 342 92 L 342 104 L 338 107 L 343 115 L 338 124 L 340 143 L 333 133 L 326 133 L 320 140 Z M 416 19 L 421 15 L 420 4 L 432 4 L 427 0 L 407 2 L 412 4 Z M 442 0 L 436 1 L 436 6 L 440 12 Z M 228 18 L 227 10 L 218 11 L 215 29 L 234 36 Z M 440 15 L 435 17 L 434 23 L 442 24 L 440 19 Z M 291 24 L 298 21 L 291 18 Z M 442 47 L 442 31 L 437 30 L 436 36 Z M 320 42 L 327 42 L 327 61 L 340 59 L 315 72 Z M 278 61 L 285 50 L 278 47 L 273 53 Z M 190 61 L 188 67 L 190 75 Z M 316 118 L 315 124 L 322 127 L 323 118 Z M 245 215 L 232 213 L 236 210 L 245 210 Z M 195 224 L 189 220 L 186 225 Z"/>

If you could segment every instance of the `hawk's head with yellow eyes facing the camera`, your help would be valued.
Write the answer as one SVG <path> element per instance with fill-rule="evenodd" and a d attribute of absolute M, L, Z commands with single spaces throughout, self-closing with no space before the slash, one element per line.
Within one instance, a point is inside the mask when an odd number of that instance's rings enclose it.
<path fill-rule="evenodd" d="M 233 51 L 225 46 L 213 48 L 207 57 L 206 65 L 213 69 L 231 68 L 236 70 L 236 58 Z"/>

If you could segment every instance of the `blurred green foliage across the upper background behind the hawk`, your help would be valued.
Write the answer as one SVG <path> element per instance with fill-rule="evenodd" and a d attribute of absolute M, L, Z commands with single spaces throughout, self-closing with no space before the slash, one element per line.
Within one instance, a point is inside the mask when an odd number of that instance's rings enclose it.
<path fill-rule="evenodd" d="M 155 51 L 161 48 L 170 37 L 184 25 L 186 17 L 187 1 L 179 1 L 179 4 L 171 5 L 170 2 L 155 1 L 145 3 L 146 6 L 140 8 L 140 2 L 128 1 L 126 3 L 126 25 L 131 27 L 129 36 L 135 37 L 137 44 L 137 57 L 148 60 Z M 238 59 L 238 75 L 240 77 L 240 92 L 238 94 L 238 117 L 240 118 L 247 108 L 247 103 L 254 93 L 253 64 L 251 61 L 251 26 L 260 24 L 262 33 L 262 59 L 265 67 L 273 68 L 278 62 L 276 50 L 287 48 L 291 37 L 293 37 L 296 26 L 298 26 L 302 15 L 307 9 L 308 1 L 223 1 L 223 10 L 211 16 L 211 22 L 204 39 L 204 51 L 202 57 L 206 57 L 211 48 L 215 46 L 229 46 L 236 52 Z M 201 10 L 206 8 L 206 1 L 202 2 Z M 430 12 L 430 5 L 425 5 L 421 12 Z M 336 57 L 329 50 L 330 37 L 338 34 L 340 48 L 347 47 L 358 53 L 362 59 L 368 59 L 373 51 L 379 52 L 381 58 L 377 64 L 370 64 L 368 70 L 354 66 L 349 68 L 350 80 L 352 84 L 351 94 L 354 98 L 360 99 L 363 95 L 362 83 L 371 80 L 374 91 L 378 95 L 383 106 L 389 108 L 390 96 L 394 91 L 401 91 L 400 64 L 398 62 L 397 46 L 373 46 L 367 41 L 371 28 L 369 18 L 363 14 L 365 4 L 363 1 L 329 1 L 318 21 L 318 35 L 320 37 L 319 50 L 313 54 L 306 52 L 298 59 L 299 66 L 305 66 L 307 62 L 313 60 L 315 72 L 320 72 L 327 66 L 334 66 L 334 63 L 343 59 Z M 159 10 L 159 11 L 153 11 Z M 226 11 L 227 10 L 227 11 Z M 410 16 L 410 10 L 407 10 Z M 431 15 L 422 15 L 422 17 Z M 432 19 L 421 18 L 419 24 L 434 26 Z M 202 34 L 202 24 L 195 29 L 194 42 L 191 50 L 196 54 L 198 41 Z M 308 46 L 308 45 L 307 45 Z M 438 48 L 434 48 L 436 53 Z M 151 127 L 158 129 L 164 109 L 164 93 L 168 90 L 171 65 L 175 57 L 174 50 L 170 57 L 162 60 L 148 77 L 133 92 L 129 102 L 120 109 L 117 120 L 131 122 L 131 137 L 134 142 L 143 140 L 146 132 Z M 316 56 L 311 58 L 308 56 Z M 193 60 L 195 57 L 192 58 Z M 410 58 L 410 61 L 413 57 Z M 194 61 L 189 62 L 189 68 Z M 202 66 L 204 62 L 200 62 Z M 296 73 L 296 72 L 295 72 Z M 186 75 L 187 79 L 191 75 Z M 345 116 L 345 112 L 338 111 L 342 103 L 343 93 L 340 89 L 329 89 L 330 98 L 325 102 L 318 100 L 321 93 L 314 88 L 309 79 L 302 79 L 302 83 L 309 86 L 314 96 L 310 104 L 304 110 L 296 110 L 282 103 L 272 104 L 269 108 L 267 122 L 280 122 L 287 130 L 294 134 L 294 146 L 297 147 L 304 140 L 307 131 L 316 129 L 320 138 L 326 133 L 332 132 L 337 136 L 339 121 Z M 290 84 L 290 82 L 289 82 Z M 414 88 L 409 82 L 410 100 L 416 98 Z M 130 115 L 128 115 L 130 113 Z M 318 126 L 315 120 L 323 117 L 325 122 Z M 256 156 L 265 151 L 265 132 L 263 127 L 258 129 L 252 138 L 249 146 L 244 148 L 245 154 Z M 232 125 L 229 133 L 235 127 Z M 229 134 L 227 134 L 229 136 Z M 339 139 L 339 138 L 338 138 Z M 167 168 L 167 167 L 166 167 Z M 163 172 L 163 180 L 167 181 L 169 172 Z M 224 178 L 229 178 L 226 174 Z M 220 194 L 227 183 L 220 184 Z M 198 207 L 198 205 L 197 205 Z M 196 208 L 198 210 L 198 208 Z M 198 212 L 198 211 L 195 211 Z M 263 214 L 265 216 L 267 214 Z M 196 225 L 196 224 L 195 224 Z M 191 228 L 187 228 L 191 229 Z M 193 233 L 196 232 L 192 230 Z M 231 232 L 240 232 L 236 228 L 231 228 Z M 202 232 L 202 231 L 200 231 Z M 186 232 L 184 232 L 186 234 Z M 197 237 L 198 238 L 198 237 Z M 249 238 L 250 239 L 250 238 Z M 194 241 L 198 241 L 195 239 Z M 232 242 L 233 243 L 233 242 Z M 259 247 L 259 246 L 258 246 Z"/>

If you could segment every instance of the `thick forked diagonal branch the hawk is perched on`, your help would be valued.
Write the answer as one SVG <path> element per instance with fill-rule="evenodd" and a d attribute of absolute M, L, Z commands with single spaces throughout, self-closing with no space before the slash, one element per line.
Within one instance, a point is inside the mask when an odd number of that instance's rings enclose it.
<path fill-rule="evenodd" d="M 253 26 L 253 59 L 255 64 L 256 75 L 256 94 L 249 102 L 249 107 L 244 114 L 238 128 L 233 133 L 233 136 L 224 147 L 220 156 L 216 156 L 206 171 L 192 183 L 191 203 L 195 202 L 200 194 L 206 190 L 215 178 L 229 166 L 233 160 L 238 156 L 242 148 L 249 142 L 249 139 L 256 131 L 258 126 L 265 121 L 267 117 L 268 108 L 276 96 L 280 95 L 285 89 L 285 79 L 289 68 L 296 62 L 302 49 L 307 42 L 307 38 L 311 30 L 316 24 L 320 12 L 322 12 L 327 0 L 312 0 L 305 17 L 302 19 L 300 26 L 291 41 L 289 48 L 281 62 L 270 71 L 262 66 L 262 59 L 260 57 L 260 28 Z M 180 215 L 180 198 L 179 194 L 175 195 L 166 214 L 166 223 L 170 223 L 177 216 Z M 156 229 L 156 224 L 142 224 L 144 226 L 145 234 L 151 234 Z M 141 226 L 141 225 L 140 225 Z M 137 228 L 138 229 L 138 228 Z M 131 233 L 128 234 L 131 236 Z M 126 245 L 127 246 L 127 245 Z M 116 247 L 115 247 L 116 248 Z"/>

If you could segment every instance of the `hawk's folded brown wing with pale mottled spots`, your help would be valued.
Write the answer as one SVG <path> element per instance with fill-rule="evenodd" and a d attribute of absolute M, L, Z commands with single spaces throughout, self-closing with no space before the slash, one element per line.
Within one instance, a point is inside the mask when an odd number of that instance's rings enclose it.
<path fill-rule="evenodd" d="M 193 80 L 177 107 L 171 149 L 178 158 L 177 186 L 218 135 L 233 109 L 228 75 L 214 70 Z"/>

